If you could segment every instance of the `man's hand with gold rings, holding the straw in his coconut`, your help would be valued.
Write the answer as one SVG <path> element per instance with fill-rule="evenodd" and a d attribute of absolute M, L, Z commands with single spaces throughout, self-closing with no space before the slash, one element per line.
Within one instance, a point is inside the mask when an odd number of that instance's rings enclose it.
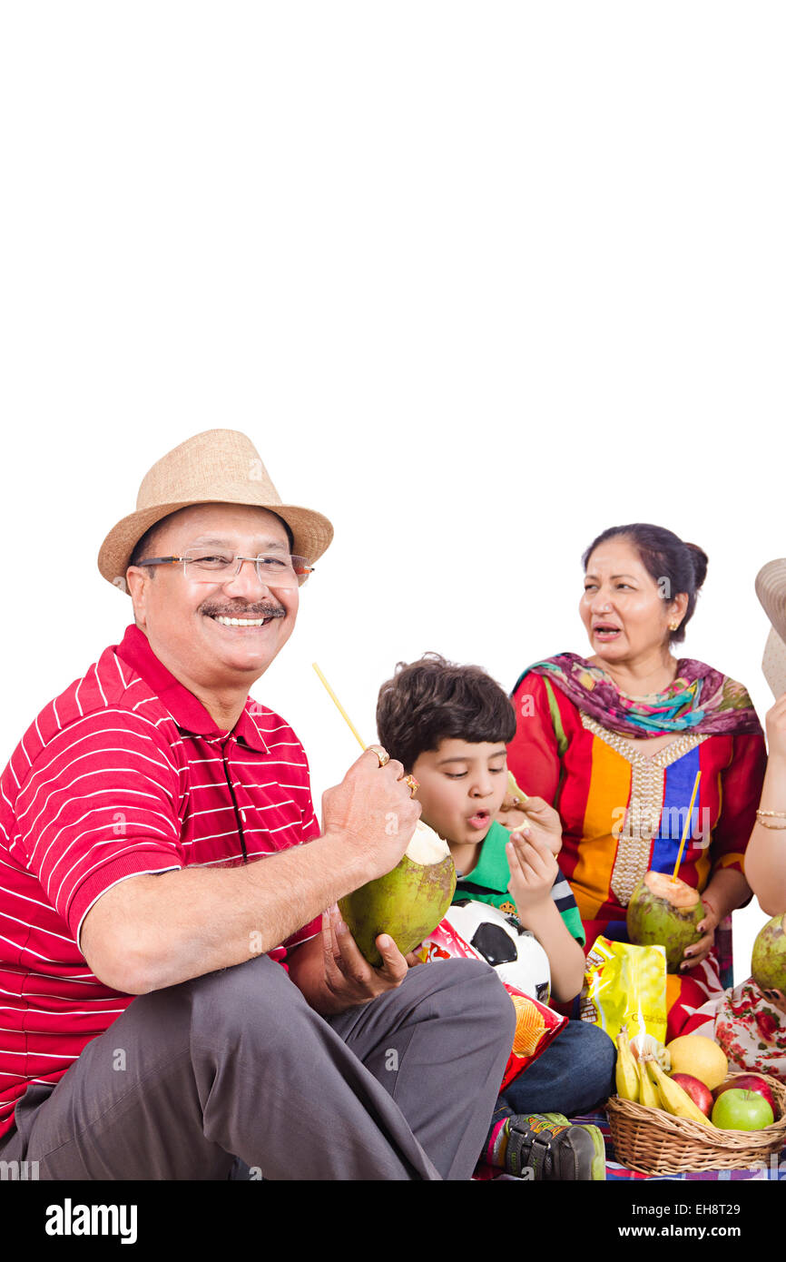
<path fill-rule="evenodd" d="M 409 846 L 420 817 L 394 758 L 380 766 L 373 750 L 361 753 L 339 785 L 322 795 L 322 834 L 341 838 L 347 858 L 363 875 L 360 883 L 384 876 Z"/>

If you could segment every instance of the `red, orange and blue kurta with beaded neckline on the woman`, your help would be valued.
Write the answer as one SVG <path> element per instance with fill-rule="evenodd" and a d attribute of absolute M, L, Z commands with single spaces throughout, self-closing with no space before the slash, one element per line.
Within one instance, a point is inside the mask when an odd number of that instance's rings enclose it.
<path fill-rule="evenodd" d="M 560 867 L 587 933 L 627 941 L 626 909 L 645 872 L 672 872 L 696 771 L 701 771 L 679 876 L 699 891 L 718 867 L 743 871 L 756 822 L 766 752 L 761 733 L 686 733 L 647 756 L 551 684 L 558 731 L 541 675 L 526 674 L 513 693 L 516 734 L 508 767 L 527 794 L 553 803 L 563 824 Z M 561 732 L 559 728 L 561 727 Z M 718 950 L 688 974 L 669 978 L 669 1037 L 717 994 Z"/>

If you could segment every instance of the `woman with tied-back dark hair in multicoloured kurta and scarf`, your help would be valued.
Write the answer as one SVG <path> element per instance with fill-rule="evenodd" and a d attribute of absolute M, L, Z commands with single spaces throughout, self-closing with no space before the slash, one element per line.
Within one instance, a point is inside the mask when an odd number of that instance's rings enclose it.
<path fill-rule="evenodd" d="M 524 673 L 508 747 L 521 789 L 560 813 L 560 867 L 588 950 L 598 934 L 626 941 L 640 877 L 674 871 L 701 771 L 679 876 L 701 892 L 707 915 L 681 973 L 667 979 L 669 1039 L 732 984 L 728 917 L 751 896 L 743 853 L 766 761 L 744 688 L 670 652 L 707 568 L 698 551 L 655 526 L 613 528 L 595 540 L 580 604 L 595 651 L 560 654 Z"/>

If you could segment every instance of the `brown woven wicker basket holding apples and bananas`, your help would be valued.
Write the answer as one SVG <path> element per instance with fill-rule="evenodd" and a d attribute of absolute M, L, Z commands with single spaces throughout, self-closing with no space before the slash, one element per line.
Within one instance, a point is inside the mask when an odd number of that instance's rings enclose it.
<path fill-rule="evenodd" d="M 720 1131 L 612 1095 L 606 1109 L 616 1160 L 645 1175 L 767 1166 L 770 1155 L 786 1146 L 786 1085 L 768 1074 L 760 1076 L 772 1088 L 777 1107 L 776 1121 L 761 1131 Z"/>

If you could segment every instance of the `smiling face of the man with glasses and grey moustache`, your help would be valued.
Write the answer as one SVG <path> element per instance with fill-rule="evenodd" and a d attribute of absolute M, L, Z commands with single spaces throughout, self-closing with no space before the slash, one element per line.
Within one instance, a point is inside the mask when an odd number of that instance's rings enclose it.
<path fill-rule="evenodd" d="M 148 555 L 182 557 L 203 546 L 241 557 L 290 551 L 283 521 L 266 509 L 199 504 L 172 514 Z M 127 583 L 138 625 L 185 687 L 250 687 L 289 640 L 298 613 L 299 589 L 266 587 L 249 562 L 225 583 L 194 582 L 182 564 L 131 567 Z"/>

